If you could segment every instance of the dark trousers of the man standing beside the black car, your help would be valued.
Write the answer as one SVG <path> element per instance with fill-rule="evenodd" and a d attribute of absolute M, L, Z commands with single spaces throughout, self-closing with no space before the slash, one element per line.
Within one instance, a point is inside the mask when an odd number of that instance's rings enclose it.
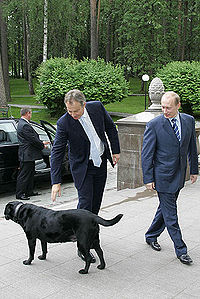
<path fill-rule="evenodd" d="M 35 161 L 20 161 L 20 170 L 17 176 L 16 197 L 29 196 L 33 193 Z"/>

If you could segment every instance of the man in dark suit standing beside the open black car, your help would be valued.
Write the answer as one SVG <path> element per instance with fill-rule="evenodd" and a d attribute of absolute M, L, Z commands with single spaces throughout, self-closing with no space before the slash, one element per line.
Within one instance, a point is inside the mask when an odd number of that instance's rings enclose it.
<path fill-rule="evenodd" d="M 28 200 L 29 196 L 38 195 L 33 192 L 35 160 L 42 158 L 42 150 L 49 143 L 39 139 L 39 135 L 29 122 L 31 115 L 31 109 L 22 108 L 17 126 L 20 170 L 17 177 L 16 198 L 21 200 Z"/>

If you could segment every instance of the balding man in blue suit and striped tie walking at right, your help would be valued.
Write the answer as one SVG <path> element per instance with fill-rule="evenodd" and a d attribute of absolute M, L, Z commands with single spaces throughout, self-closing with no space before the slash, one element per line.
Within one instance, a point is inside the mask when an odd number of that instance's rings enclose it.
<path fill-rule="evenodd" d="M 176 201 L 184 186 L 187 157 L 191 182 L 197 180 L 195 121 L 192 116 L 178 112 L 180 98 L 173 91 L 162 96 L 161 106 L 163 115 L 147 123 L 142 148 L 144 184 L 147 189 L 156 190 L 159 198 L 157 212 L 145 238 L 154 250 L 160 251 L 157 238 L 166 227 L 178 259 L 189 265 L 192 259 L 182 239 Z"/>

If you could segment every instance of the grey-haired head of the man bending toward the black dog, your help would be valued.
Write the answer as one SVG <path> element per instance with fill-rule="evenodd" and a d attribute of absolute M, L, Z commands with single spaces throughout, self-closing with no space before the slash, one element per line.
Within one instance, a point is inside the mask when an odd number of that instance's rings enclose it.
<path fill-rule="evenodd" d="M 85 109 L 85 96 L 78 89 L 72 89 L 65 95 L 64 103 L 67 108 L 67 112 L 74 118 L 79 119 Z"/>

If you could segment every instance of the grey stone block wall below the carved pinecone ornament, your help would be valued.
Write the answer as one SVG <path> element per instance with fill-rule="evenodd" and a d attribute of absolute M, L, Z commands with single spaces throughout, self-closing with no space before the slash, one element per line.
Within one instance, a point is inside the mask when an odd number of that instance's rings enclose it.
<path fill-rule="evenodd" d="M 117 121 L 121 155 L 117 168 L 117 190 L 143 186 L 141 150 L 146 123 L 161 112 L 142 112 Z M 200 123 L 196 124 L 197 150 L 200 154 Z M 186 180 L 190 179 L 189 166 Z"/>

